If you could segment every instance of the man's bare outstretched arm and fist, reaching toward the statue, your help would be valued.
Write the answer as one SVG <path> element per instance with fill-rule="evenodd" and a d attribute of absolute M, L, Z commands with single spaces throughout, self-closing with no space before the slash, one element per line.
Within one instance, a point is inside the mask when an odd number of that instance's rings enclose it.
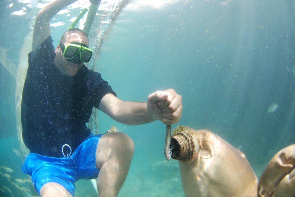
<path fill-rule="evenodd" d="M 181 96 L 172 89 L 150 94 L 148 102 L 122 101 L 107 94 L 101 99 L 99 110 L 127 125 L 140 125 L 154 120 L 171 125 L 181 118 L 181 100 Z"/>

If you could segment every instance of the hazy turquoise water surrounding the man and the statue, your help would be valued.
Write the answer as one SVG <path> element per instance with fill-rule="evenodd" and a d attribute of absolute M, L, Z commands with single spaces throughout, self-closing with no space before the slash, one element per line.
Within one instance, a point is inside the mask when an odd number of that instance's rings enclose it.
<path fill-rule="evenodd" d="M 294 1 L 233 0 L 222 6 L 220 0 L 171 0 L 157 1 L 164 2 L 158 7 L 140 2 L 130 1 L 116 19 L 96 70 L 122 100 L 146 101 L 156 90 L 175 89 L 183 98 L 178 124 L 210 130 L 241 147 L 259 177 L 275 153 L 295 143 Z M 0 46 L 12 47 L 7 57 L 18 64 L 27 24 L 38 9 L 16 16 L 12 11 L 25 4 L 9 4 L 0 3 Z M 70 25 L 68 18 L 59 15 L 55 22 Z M 65 26 L 51 27 L 55 45 Z M 16 82 L 3 65 L 0 69 L 0 166 L 12 168 L 14 178 L 26 178 L 12 151 L 18 148 Z M 272 103 L 278 107 L 268 113 Z M 135 143 L 119 196 L 184 196 L 178 161 L 167 162 L 163 155 L 163 123 L 127 126 L 100 112 L 98 119 L 100 133 L 114 125 Z M 14 196 L 23 195 L 0 178 Z M 80 184 L 87 187 L 78 187 L 76 196 L 94 195 L 88 182 Z"/>

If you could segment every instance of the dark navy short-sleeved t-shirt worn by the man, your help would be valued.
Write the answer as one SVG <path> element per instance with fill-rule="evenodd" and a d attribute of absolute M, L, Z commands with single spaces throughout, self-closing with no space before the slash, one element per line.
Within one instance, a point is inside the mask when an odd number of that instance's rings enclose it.
<path fill-rule="evenodd" d="M 74 151 L 90 134 L 85 123 L 101 98 L 116 93 L 98 72 L 85 65 L 71 77 L 54 64 L 49 36 L 29 53 L 29 67 L 22 93 L 22 137 L 31 153 L 63 157 L 64 144 Z"/>

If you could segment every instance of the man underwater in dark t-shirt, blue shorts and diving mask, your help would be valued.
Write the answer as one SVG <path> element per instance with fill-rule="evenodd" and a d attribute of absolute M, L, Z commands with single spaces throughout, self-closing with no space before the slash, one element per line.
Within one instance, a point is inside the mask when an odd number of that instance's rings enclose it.
<path fill-rule="evenodd" d="M 23 140 L 30 149 L 22 170 L 42 197 L 73 196 L 76 181 L 92 178 L 100 197 L 117 196 L 134 144 L 124 133 L 92 135 L 85 125 L 92 108 L 128 125 L 154 120 L 171 125 L 181 118 L 181 96 L 170 89 L 150 94 L 147 102 L 118 99 L 101 75 L 83 64 L 92 51 L 80 29 L 66 31 L 54 49 L 50 19 L 75 1 L 54 0 L 36 18 L 22 95 Z"/>

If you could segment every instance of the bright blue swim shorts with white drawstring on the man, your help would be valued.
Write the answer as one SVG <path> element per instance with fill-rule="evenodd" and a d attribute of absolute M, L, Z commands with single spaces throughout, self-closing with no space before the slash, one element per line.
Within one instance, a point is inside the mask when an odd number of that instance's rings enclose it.
<path fill-rule="evenodd" d="M 99 171 L 95 167 L 96 147 L 102 135 L 89 135 L 68 158 L 30 153 L 22 165 L 22 171 L 32 177 L 39 194 L 45 183 L 55 182 L 64 186 L 74 196 L 76 181 L 98 176 Z"/>

